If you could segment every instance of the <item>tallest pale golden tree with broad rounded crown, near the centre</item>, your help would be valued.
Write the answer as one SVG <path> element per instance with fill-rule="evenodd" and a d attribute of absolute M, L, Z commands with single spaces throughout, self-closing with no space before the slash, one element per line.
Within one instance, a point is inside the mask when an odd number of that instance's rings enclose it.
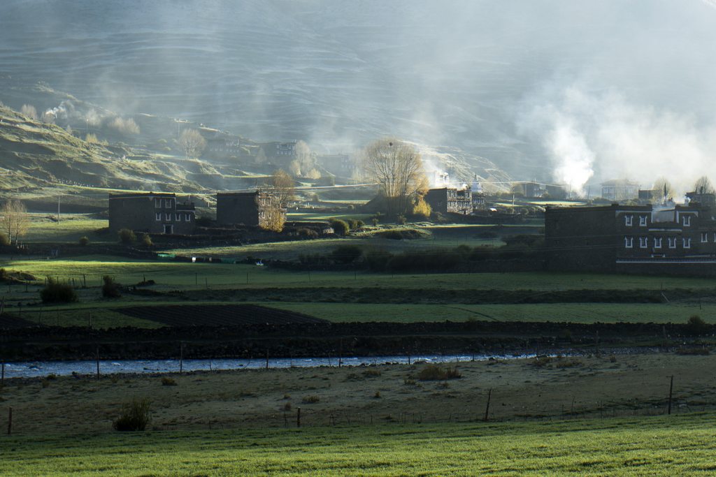
<path fill-rule="evenodd" d="M 397 139 L 379 139 L 363 152 L 365 173 L 387 198 L 388 214 L 403 214 L 415 192 L 424 187 L 420 153 Z"/>

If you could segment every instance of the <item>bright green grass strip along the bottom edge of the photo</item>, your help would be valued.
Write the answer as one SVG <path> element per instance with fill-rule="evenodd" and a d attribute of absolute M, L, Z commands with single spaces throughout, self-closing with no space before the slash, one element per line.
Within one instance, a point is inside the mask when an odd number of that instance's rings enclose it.
<path fill-rule="evenodd" d="M 14 475 L 710 475 L 714 415 L 0 438 Z"/>

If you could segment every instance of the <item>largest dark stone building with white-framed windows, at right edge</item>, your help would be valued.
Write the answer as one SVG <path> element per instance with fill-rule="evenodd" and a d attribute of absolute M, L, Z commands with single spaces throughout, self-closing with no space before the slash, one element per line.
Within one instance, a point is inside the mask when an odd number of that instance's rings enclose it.
<path fill-rule="evenodd" d="M 716 221 L 701 205 L 548 207 L 551 270 L 713 275 Z"/>

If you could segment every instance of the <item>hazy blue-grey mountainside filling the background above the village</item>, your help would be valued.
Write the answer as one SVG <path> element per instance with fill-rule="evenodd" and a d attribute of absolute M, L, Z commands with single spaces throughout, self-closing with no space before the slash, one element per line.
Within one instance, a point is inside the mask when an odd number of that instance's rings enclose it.
<path fill-rule="evenodd" d="M 14 80 L 332 152 L 395 134 L 521 179 L 614 174 L 631 150 L 604 137 L 628 137 L 648 114 L 711 124 L 716 102 L 716 11 L 705 1 L 6 0 L 2 10 L 0 73 Z M 574 89 L 586 100 L 569 102 Z M 611 92 L 639 113 L 627 124 L 609 116 Z M 21 105 L 9 89 L 0 99 Z M 574 140 L 554 144 L 565 128 Z M 617 172 L 645 170 L 661 172 L 642 162 Z"/>

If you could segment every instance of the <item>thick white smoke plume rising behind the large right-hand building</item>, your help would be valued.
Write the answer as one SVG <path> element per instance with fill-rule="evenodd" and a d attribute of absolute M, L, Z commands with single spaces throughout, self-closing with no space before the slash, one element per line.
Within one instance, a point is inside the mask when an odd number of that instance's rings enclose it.
<path fill-rule="evenodd" d="M 521 131 L 542 139 L 553 180 L 573 191 L 584 193 L 587 182 L 609 179 L 634 180 L 649 189 L 658 177 L 667 177 L 681 195 L 698 177 L 716 177 L 714 124 L 579 87 L 531 104 Z"/>

